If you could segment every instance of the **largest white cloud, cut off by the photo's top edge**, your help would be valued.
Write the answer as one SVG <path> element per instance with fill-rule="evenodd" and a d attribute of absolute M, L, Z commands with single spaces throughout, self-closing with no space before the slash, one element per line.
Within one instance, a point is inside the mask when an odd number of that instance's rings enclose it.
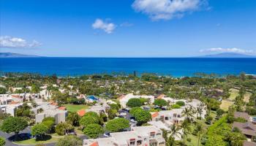
<path fill-rule="evenodd" d="M 207 0 L 135 0 L 132 7 L 148 15 L 152 20 L 181 18 L 185 12 L 193 12 Z"/>

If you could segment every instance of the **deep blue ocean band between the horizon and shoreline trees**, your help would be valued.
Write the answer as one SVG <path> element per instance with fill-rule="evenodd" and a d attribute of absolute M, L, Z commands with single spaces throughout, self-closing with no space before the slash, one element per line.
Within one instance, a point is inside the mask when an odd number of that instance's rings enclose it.
<path fill-rule="evenodd" d="M 59 76 L 150 72 L 173 77 L 195 72 L 256 74 L 256 58 L 0 58 L 1 72 L 35 72 Z"/>

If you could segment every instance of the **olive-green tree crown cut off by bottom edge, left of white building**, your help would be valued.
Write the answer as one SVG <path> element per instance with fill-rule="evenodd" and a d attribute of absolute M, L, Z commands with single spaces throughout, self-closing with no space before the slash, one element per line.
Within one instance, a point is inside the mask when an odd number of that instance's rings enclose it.
<path fill-rule="evenodd" d="M 56 146 L 82 146 L 83 141 L 79 137 L 73 135 L 65 136 L 56 143 Z"/>

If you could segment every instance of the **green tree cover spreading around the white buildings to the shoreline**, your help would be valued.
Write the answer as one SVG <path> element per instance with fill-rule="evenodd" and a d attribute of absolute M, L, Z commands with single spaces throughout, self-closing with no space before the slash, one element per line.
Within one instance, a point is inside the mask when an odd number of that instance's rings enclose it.
<path fill-rule="evenodd" d="M 155 100 L 132 98 L 127 101 L 127 114 L 136 120 L 136 126 L 146 126 L 152 120 L 151 114 L 161 110 L 181 109 L 184 101 L 170 101 L 158 99 L 159 95 L 166 95 L 173 99 L 202 101 L 195 109 L 185 107 L 182 112 L 184 121 L 173 125 L 170 131 L 163 131 L 167 145 L 242 145 L 245 137 L 241 131 L 234 130 L 234 121 L 246 122 L 241 118 L 234 118 L 234 112 L 247 112 L 256 115 L 256 79 L 241 73 L 238 76 L 197 73 L 194 77 L 170 77 L 157 74 L 93 74 L 80 77 L 57 77 L 56 74 L 43 76 L 29 73 L 6 73 L 0 77 L 1 93 L 38 93 L 46 87 L 51 99 L 44 99 L 49 103 L 65 107 L 68 111 L 66 122 L 56 124 L 54 118 L 45 118 L 42 123 L 34 122 L 32 107 L 36 103 L 26 101 L 15 112 L 15 117 L 0 112 L 1 131 L 15 132 L 15 143 L 21 145 L 35 145 L 48 142 L 70 142 L 70 145 L 80 145 L 79 139 L 69 137 L 72 131 L 97 138 L 108 132 L 119 132 L 129 128 L 130 121 L 120 115 L 122 109 L 118 99 L 127 93 L 135 95 L 152 95 Z M 28 88 L 31 87 L 31 88 Z M 14 90 L 18 88 L 18 90 Z M 85 112 L 97 101 L 86 101 L 80 96 L 95 96 L 97 99 L 110 100 L 105 112 Z M 201 115 L 206 105 L 206 118 Z M 37 112 L 42 112 L 38 110 Z M 195 116 L 197 113 L 197 116 Z M 18 139 L 20 131 L 31 126 L 34 138 Z M 173 137 L 181 137 L 180 141 Z"/>

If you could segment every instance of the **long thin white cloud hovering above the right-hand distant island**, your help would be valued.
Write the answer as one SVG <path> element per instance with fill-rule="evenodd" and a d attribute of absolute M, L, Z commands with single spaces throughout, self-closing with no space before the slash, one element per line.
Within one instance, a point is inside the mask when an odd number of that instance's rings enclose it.
<path fill-rule="evenodd" d="M 244 50 L 244 49 L 240 49 L 240 48 L 222 48 L 222 47 L 214 47 L 214 48 L 210 48 L 210 49 L 203 49 L 200 50 L 201 53 L 211 53 L 211 52 L 219 52 L 219 53 L 254 53 L 253 50 Z"/>

